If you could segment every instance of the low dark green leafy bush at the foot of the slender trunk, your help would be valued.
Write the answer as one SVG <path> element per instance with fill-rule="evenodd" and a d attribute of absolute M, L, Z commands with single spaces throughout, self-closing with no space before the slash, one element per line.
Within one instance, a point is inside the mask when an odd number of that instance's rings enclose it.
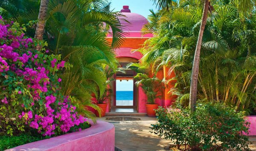
<path fill-rule="evenodd" d="M 249 124 L 243 112 L 223 103 L 198 104 L 195 112 L 182 109 L 172 112 L 160 107 L 156 111 L 158 122 L 152 124 L 151 133 L 186 145 L 190 150 L 250 150 Z"/>

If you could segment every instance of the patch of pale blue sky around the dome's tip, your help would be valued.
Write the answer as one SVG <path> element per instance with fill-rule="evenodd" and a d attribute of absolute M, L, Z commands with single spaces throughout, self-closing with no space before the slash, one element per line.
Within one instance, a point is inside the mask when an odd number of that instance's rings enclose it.
<path fill-rule="evenodd" d="M 121 11 L 122 6 L 128 5 L 132 13 L 137 13 L 143 15 L 145 18 L 148 17 L 150 11 L 153 9 L 156 11 L 156 5 L 151 0 L 109 0 L 111 2 L 111 10 Z"/>

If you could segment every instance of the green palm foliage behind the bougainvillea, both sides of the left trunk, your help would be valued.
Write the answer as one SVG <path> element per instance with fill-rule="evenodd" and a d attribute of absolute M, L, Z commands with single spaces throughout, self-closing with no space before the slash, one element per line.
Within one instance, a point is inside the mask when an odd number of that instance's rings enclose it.
<path fill-rule="evenodd" d="M 37 0 L 4 0 L 0 6 L 1 14 L 21 24 L 37 20 Z M 107 0 L 50 0 L 48 4 L 44 39 L 50 53 L 61 54 L 63 61 L 72 64 L 60 74 L 61 91 L 72 95 L 73 104 L 90 118 L 94 114 L 84 106 L 99 110 L 91 95 L 102 96 L 107 89 L 105 66 L 113 70 L 117 67 L 112 49 L 123 41 L 119 16 L 122 15 L 110 11 Z M 113 31 L 112 43 L 105 39 L 109 28 Z M 34 30 L 29 28 L 27 33 L 33 36 Z"/>

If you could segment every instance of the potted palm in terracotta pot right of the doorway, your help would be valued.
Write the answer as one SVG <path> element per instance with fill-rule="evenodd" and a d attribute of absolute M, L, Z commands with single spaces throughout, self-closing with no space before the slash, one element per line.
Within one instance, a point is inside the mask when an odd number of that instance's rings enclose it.
<path fill-rule="evenodd" d="M 147 115 L 149 117 L 155 117 L 156 113 L 154 110 L 159 106 L 159 104 L 155 103 L 155 99 L 161 96 L 158 94 L 161 81 L 156 77 L 150 78 L 148 75 L 143 73 L 137 73 L 134 79 L 137 80 L 135 83 L 136 86 L 141 87 L 147 96 Z"/>

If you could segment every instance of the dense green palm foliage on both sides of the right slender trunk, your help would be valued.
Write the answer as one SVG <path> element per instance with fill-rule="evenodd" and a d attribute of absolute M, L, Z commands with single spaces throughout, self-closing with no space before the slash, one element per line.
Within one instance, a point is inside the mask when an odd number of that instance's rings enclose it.
<path fill-rule="evenodd" d="M 255 114 L 256 13 L 241 11 L 239 0 L 212 1 L 201 48 L 198 99 L 218 101 Z M 172 2 L 168 11 L 152 12 L 144 31 L 154 37 L 139 51 L 143 64 L 157 73 L 163 66 L 175 72 L 170 93 L 177 104 L 188 106 L 195 46 L 201 23 L 200 0 Z M 254 113 L 253 113 L 254 112 Z"/>

